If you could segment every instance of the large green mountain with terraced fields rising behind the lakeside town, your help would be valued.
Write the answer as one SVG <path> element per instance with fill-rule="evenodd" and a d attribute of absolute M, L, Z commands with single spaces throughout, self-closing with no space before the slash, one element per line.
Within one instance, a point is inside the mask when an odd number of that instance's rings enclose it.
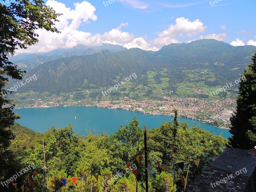
<path fill-rule="evenodd" d="M 168 95 L 170 91 L 177 91 L 174 87 L 181 85 L 191 89 L 201 87 L 204 90 L 209 86 L 223 86 L 238 79 L 243 68 L 251 61 L 253 52 L 256 52 L 255 46 L 234 47 L 213 39 L 170 44 L 157 52 L 138 48 L 119 52 L 103 50 L 41 64 L 24 77 L 36 74 L 37 80 L 31 81 L 18 92 L 59 94 L 82 90 L 99 91 L 133 73 L 138 76 L 133 80 L 135 89 L 146 86 L 149 93 L 156 92 L 157 87 L 158 91 L 164 90 L 164 94 Z M 179 94 L 179 90 L 176 93 Z"/>

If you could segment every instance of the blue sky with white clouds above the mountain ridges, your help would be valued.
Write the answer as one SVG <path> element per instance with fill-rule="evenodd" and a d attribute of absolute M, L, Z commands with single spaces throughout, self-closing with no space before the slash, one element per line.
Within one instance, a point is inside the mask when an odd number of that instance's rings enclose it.
<path fill-rule="evenodd" d="M 19 53 L 117 44 L 158 51 L 171 43 L 216 39 L 256 46 L 255 0 L 48 0 L 62 13 L 60 34 L 36 30 L 39 42 Z"/>

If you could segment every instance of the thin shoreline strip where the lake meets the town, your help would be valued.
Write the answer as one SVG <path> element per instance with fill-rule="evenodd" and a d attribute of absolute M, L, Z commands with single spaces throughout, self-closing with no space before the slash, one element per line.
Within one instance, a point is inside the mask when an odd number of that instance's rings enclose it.
<path fill-rule="evenodd" d="M 53 108 L 53 107 L 97 107 L 97 106 L 85 106 L 85 105 L 69 106 L 69 105 L 67 105 L 67 106 L 21 107 L 21 108 L 14 108 L 14 110 L 24 109 L 24 108 L 50 108 L 50 107 L 52 107 L 52 108 Z M 97 108 L 106 108 L 106 107 L 97 107 Z M 108 109 L 113 109 L 113 108 L 108 108 Z M 117 108 L 117 110 L 126 110 L 126 109 Z M 126 111 L 133 111 L 133 112 L 141 113 L 141 112 L 139 112 L 139 111 L 134 111 L 134 110 L 126 110 Z M 141 114 L 145 114 L 145 115 L 163 115 L 163 116 L 172 116 L 172 115 L 164 115 L 164 114 L 146 114 L 146 113 L 141 113 Z M 173 116 L 172 116 L 172 117 L 173 117 Z M 181 116 L 179 116 L 179 117 L 181 117 Z M 187 117 L 181 117 L 181 118 L 184 118 L 184 119 L 190 119 L 190 118 L 187 118 Z M 196 121 L 200 121 L 200 122 L 202 122 L 202 123 L 205 123 L 205 122 L 203 122 L 203 121 L 201 121 L 201 120 L 198 120 L 198 119 L 190 119 L 190 120 L 196 120 Z M 205 124 L 209 124 L 209 123 L 205 123 Z M 212 125 L 212 126 L 214 126 L 214 127 L 218 128 L 218 129 L 225 129 L 225 130 L 229 130 L 229 128 L 225 128 L 225 127 L 221 128 L 221 127 L 217 127 L 217 126 L 215 126 L 215 125 L 213 125 L 213 124 L 209 124 L 209 125 Z"/>

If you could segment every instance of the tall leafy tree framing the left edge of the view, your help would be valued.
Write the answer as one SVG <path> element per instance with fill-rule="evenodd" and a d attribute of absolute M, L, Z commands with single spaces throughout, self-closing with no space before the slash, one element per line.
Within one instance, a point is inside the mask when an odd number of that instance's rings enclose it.
<path fill-rule="evenodd" d="M 5 96 L 12 93 L 13 89 L 8 91 L 4 87 L 9 78 L 21 80 L 26 72 L 18 69 L 8 57 L 13 55 L 18 47 L 26 49 L 28 45 L 36 44 L 38 35 L 35 30 L 38 28 L 60 33 L 53 27 L 60 14 L 44 5 L 44 1 L 16 0 L 8 6 L 5 2 L 7 3 L 3 0 L 0 4 L 0 162 L 4 165 L 0 171 L 1 175 L 5 172 L 7 148 L 15 137 L 9 127 L 20 118 L 12 112 L 15 107 L 13 100 Z"/>

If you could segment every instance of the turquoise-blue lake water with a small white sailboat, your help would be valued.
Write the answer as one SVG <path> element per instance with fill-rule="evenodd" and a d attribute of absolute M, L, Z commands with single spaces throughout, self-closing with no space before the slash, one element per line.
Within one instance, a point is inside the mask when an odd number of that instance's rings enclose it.
<path fill-rule="evenodd" d="M 51 107 L 51 108 L 22 108 L 14 110 L 22 116 L 16 120 L 19 124 L 26 126 L 36 132 L 45 132 L 48 128 L 55 125 L 57 128 L 66 127 L 72 124 L 73 130 L 79 135 L 88 132 L 110 134 L 116 132 L 120 125 L 128 125 L 134 114 L 140 120 L 140 127 L 147 125 L 147 129 L 159 127 L 162 123 L 173 120 L 171 116 L 146 115 L 133 111 L 108 109 L 98 107 Z M 219 135 L 223 132 L 223 137 L 228 138 L 231 134 L 228 130 L 219 129 L 201 121 L 179 118 L 180 122 L 186 121 L 189 126 L 199 124 L 200 127 L 211 133 Z"/>

